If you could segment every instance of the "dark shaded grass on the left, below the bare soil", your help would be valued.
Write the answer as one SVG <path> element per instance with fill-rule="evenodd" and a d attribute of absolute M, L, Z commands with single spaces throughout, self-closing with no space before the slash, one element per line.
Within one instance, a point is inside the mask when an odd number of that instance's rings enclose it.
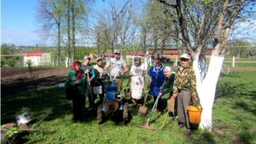
<path fill-rule="evenodd" d="M 38 89 L 37 92 L 30 90 L 18 95 L 5 96 L 1 99 L 1 110 L 2 124 L 16 123 L 15 117 L 23 112 L 28 112 L 30 118 L 50 113 L 44 121 L 67 116 L 72 121 L 73 117 L 72 101 L 66 100 L 65 89 L 56 86 Z"/>

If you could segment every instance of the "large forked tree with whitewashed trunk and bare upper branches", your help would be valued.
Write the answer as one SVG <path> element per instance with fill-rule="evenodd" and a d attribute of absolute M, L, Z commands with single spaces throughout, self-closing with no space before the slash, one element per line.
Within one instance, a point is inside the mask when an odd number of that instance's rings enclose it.
<path fill-rule="evenodd" d="M 230 30 L 235 31 L 232 25 L 241 21 L 241 17 L 247 14 L 247 8 L 253 6 L 255 2 L 249 0 L 176 0 L 171 3 L 157 1 L 176 10 L 177 26 L 193 60 L 197 93 L 203 107 L 200 127 L 212 130 L 215 89 L 224 57 L 230 54 L 226 50 Z M 203 54 L 203 50 L 208 46 L 212 47 L 209 66 Z"/>

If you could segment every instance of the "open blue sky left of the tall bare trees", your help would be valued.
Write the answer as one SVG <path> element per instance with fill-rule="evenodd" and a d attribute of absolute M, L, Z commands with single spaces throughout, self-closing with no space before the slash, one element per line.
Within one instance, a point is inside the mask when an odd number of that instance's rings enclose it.
<path fill-rule="evenodd" d="M 34 32 L 37 0 L 1 1 L 1 43 L 36 45 L 40 38 Z"/>

